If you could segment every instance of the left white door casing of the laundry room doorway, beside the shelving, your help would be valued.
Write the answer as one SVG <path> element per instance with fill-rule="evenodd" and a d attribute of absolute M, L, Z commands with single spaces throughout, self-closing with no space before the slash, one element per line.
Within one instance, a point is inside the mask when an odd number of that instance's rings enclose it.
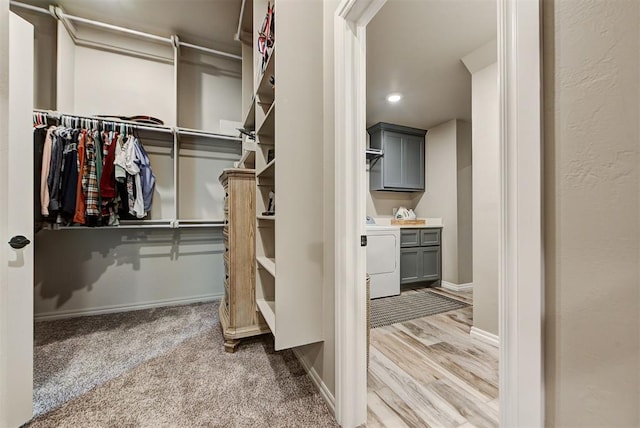
<path fill-rule="evenodd" d="M 367 419 L 366 25 L 386 0 L 344 0 L 334 18 L 336 419 Z"/>

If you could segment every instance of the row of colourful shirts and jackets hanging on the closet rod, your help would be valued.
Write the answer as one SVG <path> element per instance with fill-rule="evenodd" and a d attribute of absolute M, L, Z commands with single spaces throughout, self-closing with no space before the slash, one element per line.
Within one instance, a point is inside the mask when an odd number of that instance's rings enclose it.
<path fill-rule="evenodd" d="M 47 127 L 34 114 L 36 230 L 44 220 L 97 227 L 146 217 L 155 176 L 138 138 L 112 124 L 107 131 L 95 121 L 60 120 L 63 126 Z"/>

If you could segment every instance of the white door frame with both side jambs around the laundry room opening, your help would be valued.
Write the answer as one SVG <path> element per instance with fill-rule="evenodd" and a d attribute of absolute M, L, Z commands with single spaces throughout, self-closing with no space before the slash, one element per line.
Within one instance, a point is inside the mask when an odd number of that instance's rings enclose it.
<path fill-rule="evenodd" d="M 336 419 L 367 420 L 366 25 L 386 0 L 334 15 Z M 544 426 L 541 0 L 496 0 L 500 115 L 500 425 Z"/>

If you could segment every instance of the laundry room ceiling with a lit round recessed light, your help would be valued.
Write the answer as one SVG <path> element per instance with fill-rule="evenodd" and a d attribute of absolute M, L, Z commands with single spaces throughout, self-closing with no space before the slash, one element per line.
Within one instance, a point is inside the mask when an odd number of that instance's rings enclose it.
<path fill-rule="evenodd" d="M 389 0 L 367 26 L 367 126 L 471 120 L 460 59 L 496 38 L 495 0 Z M 397 104 L 387 95 L 403 95 Z"/>

